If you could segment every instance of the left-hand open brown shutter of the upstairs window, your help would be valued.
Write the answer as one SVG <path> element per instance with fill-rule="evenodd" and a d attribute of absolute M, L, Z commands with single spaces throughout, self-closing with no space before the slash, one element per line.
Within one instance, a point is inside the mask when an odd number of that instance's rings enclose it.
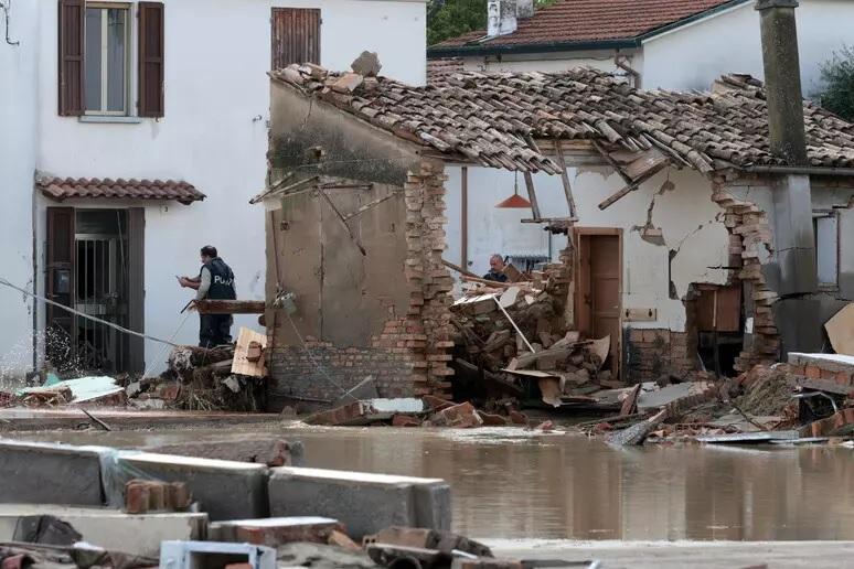
<path fill-rule="evenodd" d="M 83 45 L 84 0 L 60 0 L 58 40 L 60 115 L 75 117 L 83 115 Z"/>

